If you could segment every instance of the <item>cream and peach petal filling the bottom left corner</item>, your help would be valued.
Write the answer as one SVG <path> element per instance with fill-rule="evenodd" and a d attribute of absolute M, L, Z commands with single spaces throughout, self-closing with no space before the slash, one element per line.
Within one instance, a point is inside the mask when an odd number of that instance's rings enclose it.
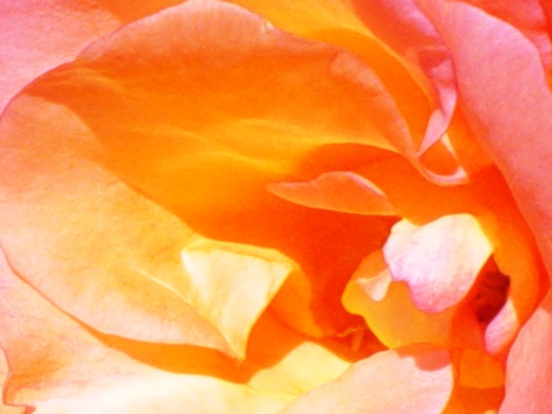
<path fill-rule="evenodd" d="M 108 348 L 0 264 L 6 400 L 40 413 L 275 413 L 291 397 L 204 375 L 173 374 Z"/>

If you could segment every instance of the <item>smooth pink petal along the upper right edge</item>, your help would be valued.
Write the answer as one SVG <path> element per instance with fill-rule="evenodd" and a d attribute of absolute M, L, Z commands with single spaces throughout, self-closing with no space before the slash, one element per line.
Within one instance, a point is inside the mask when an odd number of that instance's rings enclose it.
<path fill-rule="evenodd" d="M 451 49 L 466 119 L 502 170 L 551 274 L 545 177 L 552 175 L 552 96 L 538 50 L 509 24 L 462 2 L 420 4 Z"/>

